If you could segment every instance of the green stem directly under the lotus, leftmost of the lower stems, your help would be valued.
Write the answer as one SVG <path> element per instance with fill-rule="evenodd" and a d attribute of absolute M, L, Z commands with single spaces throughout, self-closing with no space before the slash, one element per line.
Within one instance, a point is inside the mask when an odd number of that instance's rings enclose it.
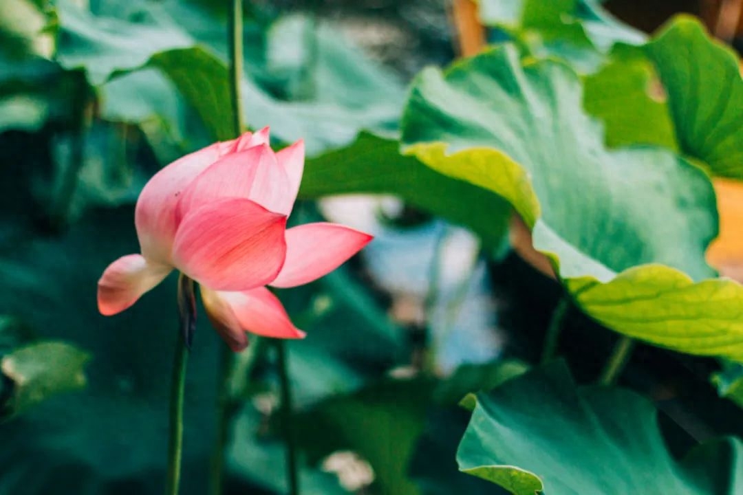
<path fill-rule="evenodd" d="M 196 305 L 193 281 L 183 275 L 178 278 L 178 313 L 180 328 L 173 358 L 173 378 L 170 392 L 170 438 L 168 443 L 168 471 L 166 495 L 177 495 L 181 482 L 183 458 L 184 396 L 186 392 L 186 366 L 189 355 L 189 338 L 196 324 Z"/>

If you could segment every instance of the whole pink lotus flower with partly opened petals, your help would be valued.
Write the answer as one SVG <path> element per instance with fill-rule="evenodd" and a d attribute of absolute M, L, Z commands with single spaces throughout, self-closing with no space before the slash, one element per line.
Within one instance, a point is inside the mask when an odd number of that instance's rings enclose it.
<path fill-rule="evenodd" d="M 160 170 L 137 200 L 142 254 L 119 258 L 103 272 L 100 312 L 127 309 L 178 269 L 200 284 L 208 316 L 233 350 L 247 346 L 246 331 L 302 338 L 265 286 L 314 281 L 371 240 L 334 223 L 286 229 L 304 164 L 304 142 L 274 153 L 265 128 Z"/>

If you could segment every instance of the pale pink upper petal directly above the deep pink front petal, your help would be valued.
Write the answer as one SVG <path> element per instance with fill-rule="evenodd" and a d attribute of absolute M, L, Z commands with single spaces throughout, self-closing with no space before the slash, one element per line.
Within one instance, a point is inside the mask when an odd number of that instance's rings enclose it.
<path fill-rule="evenodd" d="M 175 209 L 176 221 L 180 223 L 186 213 L 219 198 L 248 198 L 259 170 L 275 166 L 276 158 L 267 145 L 221 157 L 184 189 Z"/>

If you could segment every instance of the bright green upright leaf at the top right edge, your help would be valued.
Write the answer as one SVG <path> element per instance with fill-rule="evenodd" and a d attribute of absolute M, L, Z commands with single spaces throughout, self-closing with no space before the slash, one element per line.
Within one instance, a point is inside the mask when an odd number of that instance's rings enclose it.
<path fill-rule="evenodd" d="M 733 50 L 678 16 L 646 45 L 668 93 L 681 150 L 743 179 L 743 79 Z"/>

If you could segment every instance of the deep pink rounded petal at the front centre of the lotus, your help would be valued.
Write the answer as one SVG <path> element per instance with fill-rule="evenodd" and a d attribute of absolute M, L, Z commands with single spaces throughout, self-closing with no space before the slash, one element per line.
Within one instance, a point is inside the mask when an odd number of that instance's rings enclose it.
<path fill-rule="evenodd" d="M 284 215 L 253 201 L 215 200 L 186 214 L 175 235 L 173 260 L 210 289 L 253 289 L 281 270 L 285 228 Z"/>

